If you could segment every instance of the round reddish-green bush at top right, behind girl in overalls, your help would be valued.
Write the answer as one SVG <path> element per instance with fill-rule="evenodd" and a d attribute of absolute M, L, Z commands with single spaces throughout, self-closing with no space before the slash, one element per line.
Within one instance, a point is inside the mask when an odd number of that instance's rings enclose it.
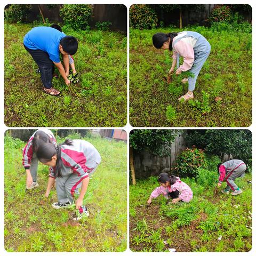
<path fill-rule="evenodd" d="M 208 22 L 212 25 L 214 22 L 230 22 L 232 18 L 232 12 L 228 5 L 217 5 L 215 6 L 208 18 Z"/>

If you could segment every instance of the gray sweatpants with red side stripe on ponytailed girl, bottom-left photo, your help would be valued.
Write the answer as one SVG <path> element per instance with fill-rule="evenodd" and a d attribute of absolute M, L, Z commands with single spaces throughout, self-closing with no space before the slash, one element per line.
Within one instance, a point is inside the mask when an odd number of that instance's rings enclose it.
<path fill-rule="evenodd" d="M 94 173 L 97 169 L 97 166 L 90 170 L 89 177 Z M 78 188 L 82 186 L 81 177 L 79 177 L 75 173 L 71 173 L 70 175 L 66 175 L 63 177 L 57 177 L 56 182 L 56 191 L 59 203 L 67 203 L 70 201 L 72 204 L 74 202 L 74 195 L 79 195 Z"/>

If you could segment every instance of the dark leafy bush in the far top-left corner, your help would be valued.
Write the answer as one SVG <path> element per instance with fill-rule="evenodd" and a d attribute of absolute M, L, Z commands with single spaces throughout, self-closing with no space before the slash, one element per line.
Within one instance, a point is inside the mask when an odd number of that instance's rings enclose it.
<path fill-rule="evenodd" d="M 11 4 L 4 10 L 5 21 L 10 23 L 27 22 L 31 4 Z"/>

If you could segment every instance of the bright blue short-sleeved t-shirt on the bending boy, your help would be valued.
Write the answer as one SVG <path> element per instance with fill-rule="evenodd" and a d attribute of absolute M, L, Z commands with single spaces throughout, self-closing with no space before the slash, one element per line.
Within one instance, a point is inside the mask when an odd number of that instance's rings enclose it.
<path fill-rule="evenodd" d="M 28 49 L 47 52 L 50 59 L 58 63 L 60 62 L 60 39 L 65 36 L 55 28 L 35 27 L 25 35 L 23 43 Z"/>

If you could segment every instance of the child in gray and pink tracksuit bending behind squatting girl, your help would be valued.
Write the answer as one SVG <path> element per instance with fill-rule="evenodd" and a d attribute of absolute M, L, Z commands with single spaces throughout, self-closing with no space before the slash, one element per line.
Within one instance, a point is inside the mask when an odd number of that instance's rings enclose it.
<path fill-rule="evenodd" d="M 222 181 L 227 182 L 227 187 L 221 190 L 221 193 L 229 194 L 229 191 L 231 189 L 232 196 L 241 194 L 243 191 L 237 187 L 235 179 L 239 177 L 244 177 L 246 171 L 246 164 L 242 160 L 233 159 L 222 164 L 220 163 L 217 167 L 220 174 L 218 186 L 221 186 Z"/>

